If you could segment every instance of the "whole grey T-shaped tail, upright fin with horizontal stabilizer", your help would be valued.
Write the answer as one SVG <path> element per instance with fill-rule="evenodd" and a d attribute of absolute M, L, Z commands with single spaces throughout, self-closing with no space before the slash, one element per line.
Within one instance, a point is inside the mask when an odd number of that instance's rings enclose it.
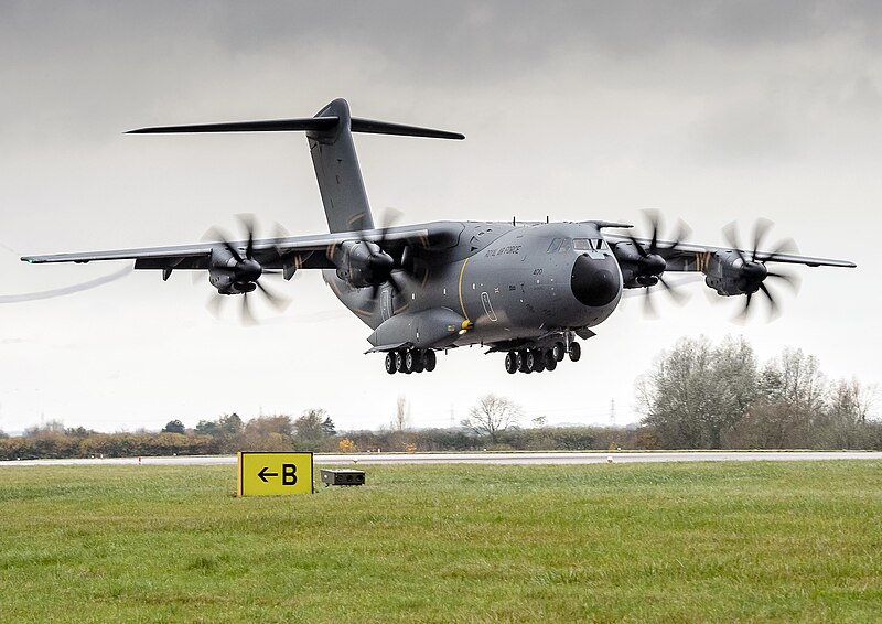
<path fill-rule="evenodd" d="M 433 139 L 464 139 L 458 132 L 432 130 L 388 123 L 349 116 L 345 99 L 335 99 L 314 117 L 305 119 L 273 119 L 269 121 L 234 121 L 198 126 L 162 126 L 130 130 L 136 135 L 170 132 L 291 132 L 305 131 L 310 142 L 312 164 L 322 194 L 327 227 L 331 232 L 373 229 L 374 218 L 367 202 L 362 169 L 355 154 L 353 132 L 400 135 Z"/>

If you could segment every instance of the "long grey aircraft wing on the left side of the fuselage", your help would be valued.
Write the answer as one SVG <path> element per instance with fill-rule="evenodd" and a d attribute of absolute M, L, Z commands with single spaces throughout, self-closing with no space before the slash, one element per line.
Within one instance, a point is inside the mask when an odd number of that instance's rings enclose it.
<path fill-rule="evenodd" d="M 448 228 L 431 228 L 430 226 L 431 224 L 365 232 L 257 239 L 254 241 L 254 258 L 266 269 L 332 269 L 335 267 L 329 259 L 330 251 L 334 246 L 346 240 L 381 240 L 386 248 L 402 248 L 411 245 L 431 249 L 433 245 L 442 244 L 445 238 L 449 238 L 451 233 Z M 168 247 L 33 255 L 23 256 L 21 259 L 33 265 L 135 260 L 136 269 L 159 269 L 170 272 L 175 269 L 207 269 L 212 250 L 223 249 L 226 245 L 226 243 L 218 240 Z M 248 241 L 230 241 L 229 245 L 244 251 Z"/>

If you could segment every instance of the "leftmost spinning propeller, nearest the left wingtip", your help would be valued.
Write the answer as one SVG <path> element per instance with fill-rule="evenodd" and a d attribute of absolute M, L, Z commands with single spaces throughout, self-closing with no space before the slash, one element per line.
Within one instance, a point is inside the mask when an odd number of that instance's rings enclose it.
<path fill-rule="evenodd" d="M 252 214 L 239 214 L 236 215 L 236 218 L 248 235 L 248 240 L 244 250 L 234 245 L 226 233 L 217 227 L 211 228 L 205 234 L 205 237 L 211 237 L 214 240 L 222 243 L 224 248 L 236 261 L 230 271 L 235 280 L 234 286 L 236 286 L 237 290 L 244 290 L 244 292 L 241 292 L 241 320 L 245 324 L 252 325 L 257 323 L 257 319 L 251 310 L 251 298 L 249 298 L 249 294 L 252 292 L 260 292 L 263 295 L 263 299 L 279 312 L 283 312 L 291 303 L 291 300 L 275 292 L 261 281 L 261 278 L 265 276 L 280 276 L 282 271 L 276 269 L 265 269 L 255 257 L 255 232 L 257 230 L 257 222 L 255 216 Z M 283 238 L 286 236 L 287 233 L 284 232 L 284 228 L 282 228 L 282 226 L 279 224 L 276 224 L 273 238 Z M 278 248 L 276 252 L 280 254 Z M 249 284 L 254 286 L 250 290 L 247 290 Z M 227 295 L 218 292 L 208 301 L 207 308 L 216 316 L 219 315 L 220 305 L 225 300 L 225 297 Z"/>

